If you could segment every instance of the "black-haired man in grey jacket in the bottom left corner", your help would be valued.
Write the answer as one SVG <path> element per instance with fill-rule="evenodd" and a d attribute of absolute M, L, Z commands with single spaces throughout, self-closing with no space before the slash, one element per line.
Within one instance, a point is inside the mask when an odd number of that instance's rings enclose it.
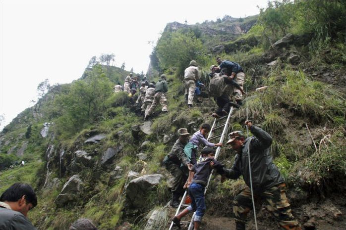
<path fill-rule="evenodd" d="M 37 197 L 29 184 L 12 184 L 0 196 L 0 230 L 37 230 L 26 218 L 36 205 Z"/>

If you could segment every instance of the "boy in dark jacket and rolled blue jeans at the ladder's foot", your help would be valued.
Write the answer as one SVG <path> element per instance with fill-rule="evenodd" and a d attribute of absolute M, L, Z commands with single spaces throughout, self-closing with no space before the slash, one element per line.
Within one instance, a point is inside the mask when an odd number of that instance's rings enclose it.
<path fill-rule="evenodd" d="M 220 162 L 214 159 L 215 150 L 212 148 L 204 148 L 201 151 L 202 158 L 198 160 L 197 164 L 193 166 L 195 172 L 192 184 L 189 187 L 189 196 L 191 198 L 191 205 L 182 210 L 177 216 L 172 219 L 173 223 L 180 228 L 180 219 L 190 212 L 196 212 L 194 217 L 194 230 L 198 230 L 202 217 L 205 213 L 205 195 L 204 189 L 207 186 L 209 175 L 213 168 L 217 173 L 224 174 L 223 166 Z"/>

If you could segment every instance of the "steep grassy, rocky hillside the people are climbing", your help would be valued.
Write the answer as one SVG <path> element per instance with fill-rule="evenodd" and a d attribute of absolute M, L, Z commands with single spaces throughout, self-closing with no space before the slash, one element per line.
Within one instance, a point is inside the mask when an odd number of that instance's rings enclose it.
<path fill-rule="evenodd" d="M 0 192 L 17 181 L 33 184 L 39 204 L 29 218 L 40 230 L 68 229 L 80 217 L 91 219 L 101 230 L 168 228 L 175 210 L 166 205 L 172 176 L 162 160 L 179 128 L 191 133 L 202 123 L 212 123 L 217 107 L 204 90 L 203 102 L 187 108 L 182 71 L 191 59 L 197 60 L 207 85 L 209 67 L 220 55 L 238 62 L 246 74 L 244 106 L 232 116 L 230 131 L 246 133 L 248 107 L 254 124 L 274 138 L 271 154 L 286 179 L 293 214 L 303 229 L 344 230 L 342 3 L 324 1 L 324 7 L 312 7 L 320 1 L 285 1 L 269 5 L 255 17 L 168 24 L 153 50 L 151 66 L 168 76 L 169 113 L 157 108 L 154 118 L 144 121 L 133 105 L 136 95 L 112 92 L 114 83 L 128 73 L 95 65 L 80 80 L 61 86 L 55 96 L 48 92 L 40 111 L 26 109 L 1 132 L 3 168 L 16 160 L 27 164 L 1 169 Z M 323 14 L 313 11 L 317 9 Z M 268 88 L 256 91 L 263 86 Z M 45 122 L 50 123 L 46 128 Z M 45 137 L 40 134 L 43 128 Z M 234 154 L 223 147 L 219 160 L 231 167 Z M 202 229 L 234 229 L 232 201 L 244 186 L 241 179 L 221 184 L 219 176 L 212 178 Z M 260 229 L 277 230 L 276 221 L 256 202 Z M 255 229 L 252 212 L 247 229 Z"/>

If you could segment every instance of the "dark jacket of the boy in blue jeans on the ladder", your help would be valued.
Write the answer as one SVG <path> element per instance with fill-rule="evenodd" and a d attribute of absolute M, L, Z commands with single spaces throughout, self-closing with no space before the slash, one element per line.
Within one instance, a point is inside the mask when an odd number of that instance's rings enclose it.
<path fill-rule="evenodd" d="M 223 166 L 215 159 L 209 157 L 202 157 L 198 160 L 197 164 L 193 166 L 192 171 L 195 172 L 192 183 L 202 184 L 206 186 L 208 183 L 209 175 L 212 171 L 210 162 L 214 161 L 214 168 L 219 174 L 224 174 Z"/>

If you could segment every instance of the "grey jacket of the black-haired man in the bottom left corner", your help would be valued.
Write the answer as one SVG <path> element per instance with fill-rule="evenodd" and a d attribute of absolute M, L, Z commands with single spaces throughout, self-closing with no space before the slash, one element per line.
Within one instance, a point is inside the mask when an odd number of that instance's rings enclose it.
<path fill-rule="evenodd" d="M 0 207 L 0 230 L 37 230 L 20 212 Z"/>

